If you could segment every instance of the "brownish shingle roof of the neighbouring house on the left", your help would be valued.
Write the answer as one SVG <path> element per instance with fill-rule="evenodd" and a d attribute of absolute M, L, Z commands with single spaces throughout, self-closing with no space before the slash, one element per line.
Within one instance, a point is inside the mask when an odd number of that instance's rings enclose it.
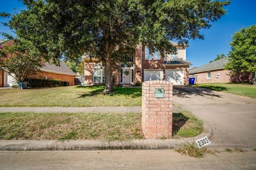
<path fill-rule="evenodd" d="M 76 75 L 76 73 L 74 73 L 71 69 L 69 69 L 69 67 L 64 62 L 60 62 L 60 66 L 45 63 L 40 70 L 45 72 L 58 73 L 58 74 Z"/>

